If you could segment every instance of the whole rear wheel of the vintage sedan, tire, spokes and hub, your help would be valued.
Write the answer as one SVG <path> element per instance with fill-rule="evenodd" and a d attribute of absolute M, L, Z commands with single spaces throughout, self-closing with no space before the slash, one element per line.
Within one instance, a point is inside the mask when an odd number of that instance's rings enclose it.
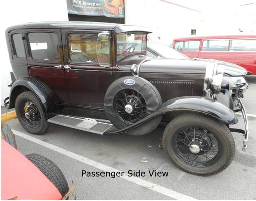
<path fill-rule="evenodd" d="M 18 95 L 15 101 L 17 118 L 29 133 L 41 135 L 48 128 L 48 122 L 41 103 L 35 94 L 26 91 Z"/>

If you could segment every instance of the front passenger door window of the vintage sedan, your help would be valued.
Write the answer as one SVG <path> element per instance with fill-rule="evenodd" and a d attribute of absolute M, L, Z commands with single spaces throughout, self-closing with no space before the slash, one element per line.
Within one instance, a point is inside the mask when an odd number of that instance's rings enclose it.
<path fill-rule="evenodd" d="M 98 63 L 97 53 L 108 58 L 109 46 L 99 43 L 98 33 L 72 33 L 68 35 L 69 58 L 73 62 Z"/>

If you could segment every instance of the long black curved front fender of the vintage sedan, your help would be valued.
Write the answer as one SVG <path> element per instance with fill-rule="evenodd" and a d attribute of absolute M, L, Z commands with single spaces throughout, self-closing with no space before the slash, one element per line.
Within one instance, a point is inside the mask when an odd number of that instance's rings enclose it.
<path fill-rule="evenodd" d="M 151 120 L 159 116 L 163 116 L 163 118 L 166 118 L 168 121 L 170 121 L 175 116 L 184 113 L 199 113 L 206 115 L 223 122 L 225 125 L 236 124 L 238 122 L 236 114 L 216 100 L 206 97 L 184 96 L 168 100 L 167 102 L 163 103 L 157 111 L 146 116 L 144 119 L 124 129 L 105 132 L 104 135 L 120 133 L 130 134 L 133 132 L 138 133 L 136 130 L 140 130 L 139 133 L 142 135 L 145 134 L 145 132 L 143 132 L 141 127 L 143 128 L 146 124 L 150 124 Z"/>

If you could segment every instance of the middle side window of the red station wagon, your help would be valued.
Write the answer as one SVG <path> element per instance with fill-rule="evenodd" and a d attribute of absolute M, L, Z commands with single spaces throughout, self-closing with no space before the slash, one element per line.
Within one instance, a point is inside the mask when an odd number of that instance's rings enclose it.
<path fill-rule="evenodd" d="M 228 51 L 229 40 L 207 40 L 203 41 L 202 51 L 222 52 Z"/>

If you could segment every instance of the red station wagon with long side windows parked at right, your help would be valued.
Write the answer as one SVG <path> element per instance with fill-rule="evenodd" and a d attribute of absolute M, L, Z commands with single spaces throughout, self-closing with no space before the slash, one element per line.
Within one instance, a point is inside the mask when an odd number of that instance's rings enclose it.
<path fill-rule="evenodd" d="M 256 74 L 256 35 L 177 38 L 173 48 L 192 58 L 234 63 Z"/>

